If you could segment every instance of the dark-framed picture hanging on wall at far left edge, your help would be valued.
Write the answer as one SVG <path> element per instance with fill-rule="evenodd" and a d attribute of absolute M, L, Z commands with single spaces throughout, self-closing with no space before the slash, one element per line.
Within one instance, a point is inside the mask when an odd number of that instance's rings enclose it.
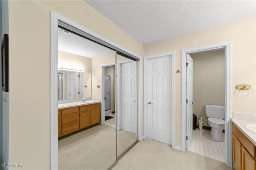
<path fill-rule="evenodd" d="M 9 92 L 9 50 L 8 35 L 4 34 L 1 43 L 1 72 L 2 72 L 2 91 Z"/>

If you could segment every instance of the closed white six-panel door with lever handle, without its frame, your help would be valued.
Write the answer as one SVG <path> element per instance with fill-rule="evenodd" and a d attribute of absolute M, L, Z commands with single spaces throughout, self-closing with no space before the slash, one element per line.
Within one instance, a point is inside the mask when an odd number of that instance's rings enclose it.
<path fill-rule="evenodd" d="M 171 145 L 171 57 L 148 60 L 148 138 Z"/>

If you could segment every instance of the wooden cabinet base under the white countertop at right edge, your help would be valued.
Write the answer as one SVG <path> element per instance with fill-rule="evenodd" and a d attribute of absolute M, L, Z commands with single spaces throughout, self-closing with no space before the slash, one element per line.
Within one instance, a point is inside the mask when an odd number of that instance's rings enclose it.
<path fill-rule="evenodd" d="M 236 170 L 256 170 L 256 146 L 234 124 L 232 144 Z"/>

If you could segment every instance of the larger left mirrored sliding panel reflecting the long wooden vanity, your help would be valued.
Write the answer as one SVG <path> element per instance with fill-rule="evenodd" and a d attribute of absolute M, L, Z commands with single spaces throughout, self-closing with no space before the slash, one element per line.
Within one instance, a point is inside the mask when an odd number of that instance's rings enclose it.
<path fill-rule="evenodd" d="M 116 162 L 115 63 L 116 51 L 58 28 L 58 169 Z"/>

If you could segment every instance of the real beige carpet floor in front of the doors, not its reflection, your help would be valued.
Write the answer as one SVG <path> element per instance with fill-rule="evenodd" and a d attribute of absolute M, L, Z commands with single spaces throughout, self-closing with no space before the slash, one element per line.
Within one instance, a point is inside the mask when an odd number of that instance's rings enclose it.
<path fill-rule="evenodd" d="M 224 162 L 170 145 L 144 139 L 130 149 L 112 170 L 232 170 Z"/>

